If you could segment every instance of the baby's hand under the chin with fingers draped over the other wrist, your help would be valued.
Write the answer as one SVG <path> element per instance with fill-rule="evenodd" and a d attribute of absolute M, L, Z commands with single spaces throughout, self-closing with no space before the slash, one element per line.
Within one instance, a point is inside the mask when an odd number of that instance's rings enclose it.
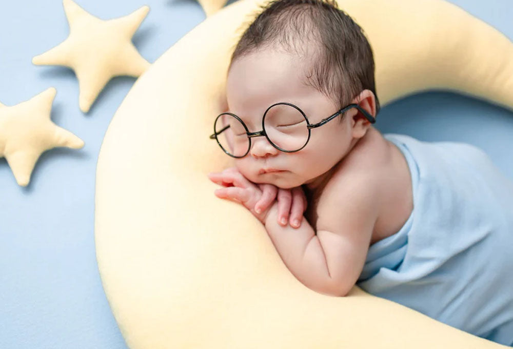
<path fill-rule="evenodd" d="M 303 212 L 306 210 L 307 200 L 301 186 L 292 189 L 278 188 L 272 184 L 259 184 L 262 190 L 262 197 L 255 204 L 255 211 L 265 210 L 271 206 L 278 193 L 278 223 L 287 225 L 290 219 L 290 226 L 299 228 L 303 221 Z"/>

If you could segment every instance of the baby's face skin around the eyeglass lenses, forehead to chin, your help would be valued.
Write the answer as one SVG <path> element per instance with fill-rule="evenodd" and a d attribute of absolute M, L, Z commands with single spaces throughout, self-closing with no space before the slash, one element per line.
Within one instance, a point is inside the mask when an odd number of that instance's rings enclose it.
<path fill-rule="evenodd" d="M 310 124 L 320 122 L 339 110 L 330 99 L 313 87 L 304 86 L 302 63 L 297 56 L 275 50 L 264 50 L 240 57 L 232 63 L 227 77 L 228 111 L 241 118 L 249 132 L 262 130 L 265 110 L 274 103 L 288 102 L 298 106 Z M 251 148 L 235 166 L 254 183 L 270 183 L 280 188 L 308 184 L 336 165 L 349 151 L 352 116 L 337 118 L 310 130 L 310 140 L 297 152 L 274 148 L 266 137 L 251 138 Z M 266 121 L 267 122 L 267 121 Z M 260 173 L 264 168 L 283 172 Z"/>

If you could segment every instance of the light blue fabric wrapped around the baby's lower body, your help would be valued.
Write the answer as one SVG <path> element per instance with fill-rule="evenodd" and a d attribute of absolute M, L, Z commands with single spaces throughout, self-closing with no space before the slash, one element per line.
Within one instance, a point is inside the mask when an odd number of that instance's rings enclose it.
<path fill-rule="evenodd" d="M 369 247 L 357 285 L 513 345 L 513 181 L 473 145 L 383 137 L 406 158 L 413 210 Z"/>

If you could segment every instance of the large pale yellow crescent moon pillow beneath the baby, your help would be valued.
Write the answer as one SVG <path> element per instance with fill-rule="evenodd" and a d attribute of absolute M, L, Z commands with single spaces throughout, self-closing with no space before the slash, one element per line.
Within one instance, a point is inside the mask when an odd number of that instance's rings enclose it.
<path fill-rule="evenodd" d="M 96 172 L 103 286 L 130 348 L 498 348 L 355 286 L 310 290 L 264 226 L 206 174 L 232 165 L 208 135 L 235 43 L 262 0 L 209 16 L 115 113 Z M 382 105 L 443 88 L 513 109 L 513 45 L 442 0 L 339 0 L 364 29 Z"/>

